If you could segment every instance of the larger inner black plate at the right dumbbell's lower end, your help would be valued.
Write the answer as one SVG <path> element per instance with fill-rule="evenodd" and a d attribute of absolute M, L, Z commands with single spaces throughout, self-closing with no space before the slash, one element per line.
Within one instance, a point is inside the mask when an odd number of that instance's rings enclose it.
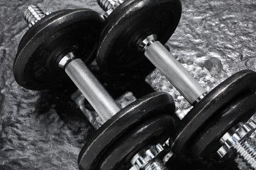
<path fill-rule="evenodd" d="M 244 70 L 230 76 L 209 92 L 197 103 L 186 116 L 171 136 L 170 144 L 173 152 L 185 154 L 188 144 L 198 133 L 202 133 L 203 127 L 213 116 L 219 115 L 221 109 L 248 92 L 255 92 L 256 73 Z"/>

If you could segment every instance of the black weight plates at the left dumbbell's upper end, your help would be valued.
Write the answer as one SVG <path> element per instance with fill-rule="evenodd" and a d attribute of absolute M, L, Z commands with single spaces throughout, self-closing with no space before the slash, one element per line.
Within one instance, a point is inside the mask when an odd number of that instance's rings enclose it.
<path fill-rule="evenodd" d="M 69 52 L 90 63 L 102 22 L 89 9 L 62 10 L 42 18 L 20 42 L 13 67 L 18 84 L 30 90 L 58 86 L 67 77 L 58 61 Z"/>

